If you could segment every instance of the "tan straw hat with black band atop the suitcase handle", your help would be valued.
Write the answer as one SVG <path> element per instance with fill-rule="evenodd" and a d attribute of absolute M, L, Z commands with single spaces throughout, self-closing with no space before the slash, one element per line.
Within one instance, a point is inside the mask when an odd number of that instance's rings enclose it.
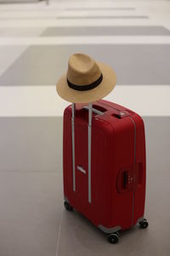
<path fill-rule="evenodd" d="M 57 92 L 67 102 L 95 102 L 107 96 L 116 85 L 111 67 L 88 55 L 71 55 L 68 70 L 57 82 Z"/>

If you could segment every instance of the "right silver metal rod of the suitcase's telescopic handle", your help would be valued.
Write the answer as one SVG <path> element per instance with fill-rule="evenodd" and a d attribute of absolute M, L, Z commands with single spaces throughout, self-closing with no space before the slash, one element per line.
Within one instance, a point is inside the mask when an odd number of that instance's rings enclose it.
<path fill-rule="evenodd" d="M 92 103 L 88 104 L 88 202 L 92 202 L 91 195 L 91 143 L 92 143 Z"/>

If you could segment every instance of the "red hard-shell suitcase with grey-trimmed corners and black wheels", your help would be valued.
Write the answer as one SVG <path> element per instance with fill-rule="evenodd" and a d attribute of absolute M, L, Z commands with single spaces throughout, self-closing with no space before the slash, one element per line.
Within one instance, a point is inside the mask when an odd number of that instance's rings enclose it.
<path fill-rule="evenodd" d="M 67 210 L 81 212 L 111 243 L 119 230 L 148 226 L 144 122 L 137 113 L 104 100 L 73 103 L 65 108 L 63 146 Z"/>

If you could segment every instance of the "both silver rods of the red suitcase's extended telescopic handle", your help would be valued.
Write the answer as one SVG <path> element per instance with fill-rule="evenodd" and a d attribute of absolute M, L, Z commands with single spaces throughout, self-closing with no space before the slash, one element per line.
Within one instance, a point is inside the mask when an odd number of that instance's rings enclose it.
<path fill-rule="evenodd" d="M 92 142 L 92 113 L 93 104 L 88 103 L 88 202 L 92 202 L 91 195 L 91 142 Z M 76 169 L 75 169 L 75 113 L 76 103 L 72 103 L 71 133 L 72 133 L 72 169 L 73 169 L 73 191 L 76 191 Z"/>

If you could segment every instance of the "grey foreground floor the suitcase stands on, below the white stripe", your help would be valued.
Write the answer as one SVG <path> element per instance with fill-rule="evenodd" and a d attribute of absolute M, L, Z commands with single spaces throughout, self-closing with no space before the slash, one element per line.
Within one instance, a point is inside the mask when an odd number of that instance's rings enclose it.
<path fill-rule="evenodd" d="M 0 255 L 168 255 L 170 118 L 144 124 L 150 227 L 122 233 L 114 247 L 78 212 L 65 212 L 62 119 L 1 118 Z"/>

